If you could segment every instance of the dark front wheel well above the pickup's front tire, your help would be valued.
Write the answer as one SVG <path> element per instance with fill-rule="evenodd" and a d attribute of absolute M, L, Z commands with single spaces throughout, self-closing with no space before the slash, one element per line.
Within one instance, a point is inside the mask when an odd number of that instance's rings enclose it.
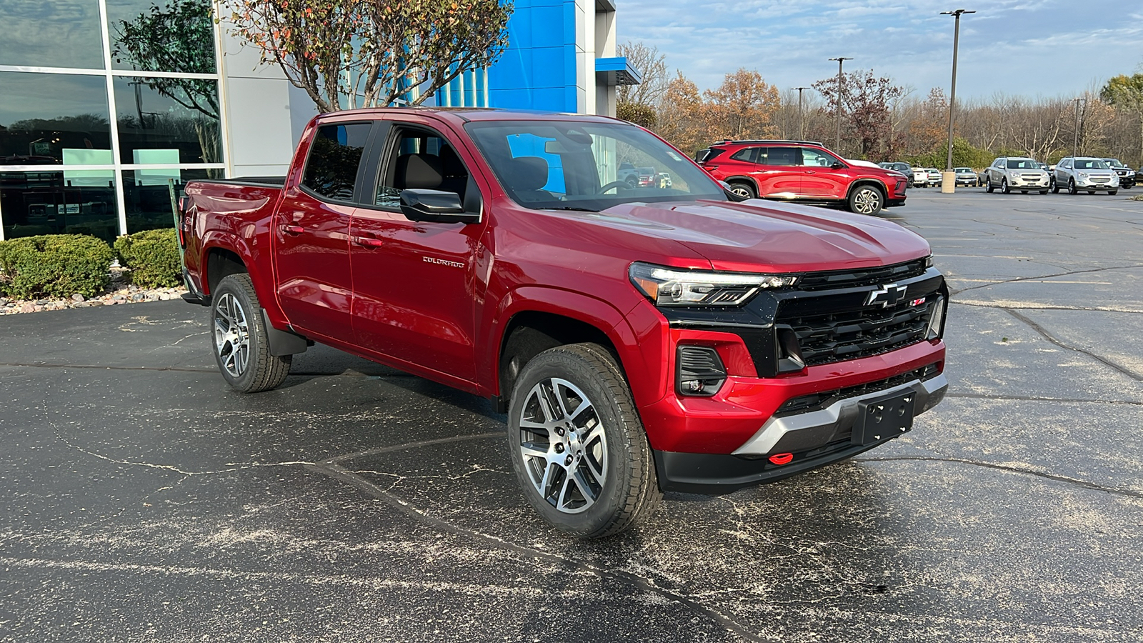
<path fill-rule="evenodd" d="M 604 347 L 623 368 L 615 344 L 591 324 L 551 312 L 526 311 L 512 317 L 501 346 L 499 395 L 495 399 L 497 412 L 507 412 L 515 379 L 529 359 L 550 348 L 581 342 Z"/>

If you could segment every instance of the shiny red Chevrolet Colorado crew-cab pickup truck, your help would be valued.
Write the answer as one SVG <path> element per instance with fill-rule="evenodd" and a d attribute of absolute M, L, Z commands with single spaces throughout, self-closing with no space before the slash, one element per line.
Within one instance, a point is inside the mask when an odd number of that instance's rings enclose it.
<path fill-rule="evenodd" d="M 948 388 L 924 239 L 742 200 L 615 119 L 323 114 L 285 177 L 189 183 L 178 232 L 232 387 L 321 342 L 488 396 L 528 501 L 581 537 L 872 448 Z"/>

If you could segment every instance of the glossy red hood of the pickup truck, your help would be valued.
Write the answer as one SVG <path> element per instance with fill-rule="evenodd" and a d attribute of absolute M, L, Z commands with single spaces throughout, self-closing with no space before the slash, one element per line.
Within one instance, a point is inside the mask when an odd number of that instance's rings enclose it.
<path fill-rule="evenodd" d="M 709 260 L 714 270 L 845 270 L 892 265 L 929 254 L 924 238 L 896 223 L 758 199 L 624 204 L 592 219 L 674 240 Z"/>

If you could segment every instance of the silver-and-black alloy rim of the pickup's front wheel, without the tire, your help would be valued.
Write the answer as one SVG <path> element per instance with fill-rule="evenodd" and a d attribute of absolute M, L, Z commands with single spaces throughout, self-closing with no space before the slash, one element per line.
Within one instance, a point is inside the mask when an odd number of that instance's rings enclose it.
<path fill-rule="evenodd" d="M 578 514 L 607 482 L 607 436 L 594 404 L 572 382 L 531 387 L 520 416 L 520 454 L 528 479 L 558 511 Z"/>

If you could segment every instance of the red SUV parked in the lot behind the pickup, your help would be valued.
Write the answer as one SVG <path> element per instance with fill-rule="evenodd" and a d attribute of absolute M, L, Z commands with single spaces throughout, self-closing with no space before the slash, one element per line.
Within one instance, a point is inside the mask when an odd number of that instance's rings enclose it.
<path fill-rule="evenodd" d="M 905 204 L 906 177 L 842 160 L 810 141 L 722 141 L 695 160 L 748 199 L 845 205 L 858 214 Z"/>

